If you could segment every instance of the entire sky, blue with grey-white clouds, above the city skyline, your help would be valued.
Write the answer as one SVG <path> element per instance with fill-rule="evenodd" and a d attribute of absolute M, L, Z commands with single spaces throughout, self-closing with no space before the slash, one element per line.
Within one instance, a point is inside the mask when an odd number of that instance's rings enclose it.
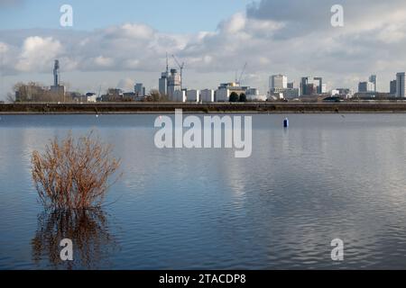
<path fill-rule="evenodd" d="M 337 3 L 343 27 L 330 22 Z M 63 4 L 72 27 L 60 25 Z M 376 74 L 387 92 L 405 45 L 404 0 L 0 0 L 0 100 L 20 81 L 51 85 L 56 58 L 70 91 L 156 88 L 166 52 L 186 63 L 189 88 L 234 81 L 246 62 L 243 84 L 262 93 L 280 73 L 355 90 Z"/>

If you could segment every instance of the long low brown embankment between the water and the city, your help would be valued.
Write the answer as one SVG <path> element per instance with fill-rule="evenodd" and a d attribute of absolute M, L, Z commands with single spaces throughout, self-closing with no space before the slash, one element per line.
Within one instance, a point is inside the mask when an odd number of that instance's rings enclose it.
<path fill-rule="evenodd" d="M 406 103 L 2 103 L 0 115 L 406 113 Z"/>

